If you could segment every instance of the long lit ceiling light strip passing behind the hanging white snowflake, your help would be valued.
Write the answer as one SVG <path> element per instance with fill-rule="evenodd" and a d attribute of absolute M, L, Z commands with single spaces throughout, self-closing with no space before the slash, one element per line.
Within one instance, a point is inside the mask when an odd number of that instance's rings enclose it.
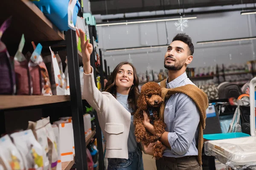
<path fill-rule="evenodd" d="M 197 17 L 184 17 L 183 19 L 196 19 Z M 180 20 L 180 18 L 170 18 L 170 19 L 160 19 L 160 20 L 146 20 L 146 21 L 130 21 L 123 23 L 106 23 L 106 24 L 96 24 L 96 26 L 115 26 L 115 25 L 124 25 L 124 24 L 136 24 L 136 23 L 153 23 L 153 22 L 161 22 L 161 21 L 174 21 Z"/>

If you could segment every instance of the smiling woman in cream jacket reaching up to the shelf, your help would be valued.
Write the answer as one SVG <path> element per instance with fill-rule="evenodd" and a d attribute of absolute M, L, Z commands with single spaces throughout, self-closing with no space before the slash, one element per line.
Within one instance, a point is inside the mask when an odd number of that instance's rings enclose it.
<path fill-rule="evenodd" d="M 90 54 L 93 46 L 84 42 L 79 30 L 84 65 L 83 97 L 97 111 L 99 124 L 106 137 L 108 170 L 143 170 L 142 151 L 134 135 L 133 113 L 137 110 L 139 79 L 129 62 L 121 62 L 111 73 L 105 91 L 96 88 Z"/>

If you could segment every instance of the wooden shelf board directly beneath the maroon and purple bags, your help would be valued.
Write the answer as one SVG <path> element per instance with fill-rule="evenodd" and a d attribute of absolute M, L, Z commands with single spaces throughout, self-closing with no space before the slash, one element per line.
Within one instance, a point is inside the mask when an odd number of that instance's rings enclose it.
<path fill-rule="evenodd" d="M 70 96 L 0 95 L 0 110 L 70 101 Z"/>

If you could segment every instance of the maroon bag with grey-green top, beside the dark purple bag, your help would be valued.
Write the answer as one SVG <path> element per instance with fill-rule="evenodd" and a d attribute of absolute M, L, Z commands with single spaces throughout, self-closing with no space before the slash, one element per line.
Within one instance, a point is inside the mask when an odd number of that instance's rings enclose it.
<path fill-rule="evenodd" d="M 24 34 L 22 34 L 18 51 L 14 57 L 14 69 L 16 77 L 17 95 L 31 95 L 31 81 L 29 74 L 29 62 L 22 54 L 25 44 Z"/>

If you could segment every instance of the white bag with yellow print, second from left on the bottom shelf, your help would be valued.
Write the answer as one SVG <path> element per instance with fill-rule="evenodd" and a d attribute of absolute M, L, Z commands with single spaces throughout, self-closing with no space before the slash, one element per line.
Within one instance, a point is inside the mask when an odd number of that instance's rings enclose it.
<path fill-rule="evenodd" d="M 43 148 L 36 141 L 32 130 L 12 133 L 14 144 L 20 151 L 26 170 L 43 170 Z"/>

